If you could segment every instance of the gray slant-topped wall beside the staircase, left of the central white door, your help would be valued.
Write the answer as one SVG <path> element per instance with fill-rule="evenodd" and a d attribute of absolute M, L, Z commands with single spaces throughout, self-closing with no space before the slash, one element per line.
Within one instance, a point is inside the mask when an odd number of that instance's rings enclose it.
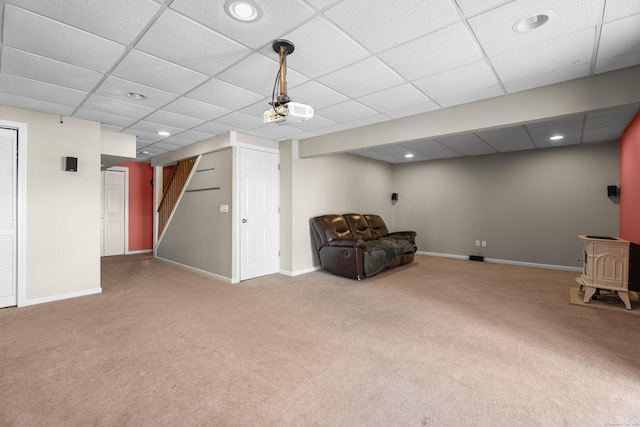
<path fill-rule="evenodd" d="M 232 148 L 205 154 L 187 184 L 187 192 L 176 208 L 159 242 L 157 255 L 181 264 L 231 279 L 232 273 Z M 219 190 L 194 191 L 208 187 Z M 228 205 L 229 212 L 220 212 Z"/>

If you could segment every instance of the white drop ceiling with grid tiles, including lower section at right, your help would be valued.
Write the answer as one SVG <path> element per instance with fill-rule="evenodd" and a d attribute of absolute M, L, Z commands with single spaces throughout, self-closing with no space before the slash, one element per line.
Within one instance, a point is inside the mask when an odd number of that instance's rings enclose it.
<path fill-rule="evenodd" d="M 640 64 L 638 0 L 279 0 L 259 2 L 253 23 L 222 0 L 0 4 L 0 104 L 135 135 L 139 161 L 228 131 L 304 140 Z M 547 25 L 513 31 L 539 13 Z M 262 122 L 278 38 L 295 44 L 288 94 L 313 106 L 308 122 Z M 420 161 L 606 141 L 637 110 L 352 152 L 400 163 L 408 152 Z"/>

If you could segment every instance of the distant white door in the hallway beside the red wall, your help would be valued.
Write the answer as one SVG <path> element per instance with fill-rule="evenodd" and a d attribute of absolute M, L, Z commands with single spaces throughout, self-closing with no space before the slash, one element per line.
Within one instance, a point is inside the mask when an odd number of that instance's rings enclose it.
<path fill-rule="evenodd" d="M 103 255 L 125 253 L 125 172 L 104 171 Z"/>

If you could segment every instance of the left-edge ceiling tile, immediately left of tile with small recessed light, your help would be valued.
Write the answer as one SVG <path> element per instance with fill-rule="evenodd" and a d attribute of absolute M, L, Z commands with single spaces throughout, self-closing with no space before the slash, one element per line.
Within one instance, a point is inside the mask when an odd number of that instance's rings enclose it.
<path fill-rule="evenodd" d="M 4 73 L 85 92 L 92 90 L 103 76 L 102 73 L 8 46 L 2 49 L 0 69 Z"/>

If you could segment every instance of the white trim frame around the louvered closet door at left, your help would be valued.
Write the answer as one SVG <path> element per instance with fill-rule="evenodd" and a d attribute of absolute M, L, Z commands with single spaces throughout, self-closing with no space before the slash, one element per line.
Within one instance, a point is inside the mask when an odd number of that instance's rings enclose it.
<path fill-rule="evenodd" d="M 16 290 L 18 307 L 23 307 L 27 305 L 27 124 L 0 119 L 0 126 L 18 131 Z"/>

